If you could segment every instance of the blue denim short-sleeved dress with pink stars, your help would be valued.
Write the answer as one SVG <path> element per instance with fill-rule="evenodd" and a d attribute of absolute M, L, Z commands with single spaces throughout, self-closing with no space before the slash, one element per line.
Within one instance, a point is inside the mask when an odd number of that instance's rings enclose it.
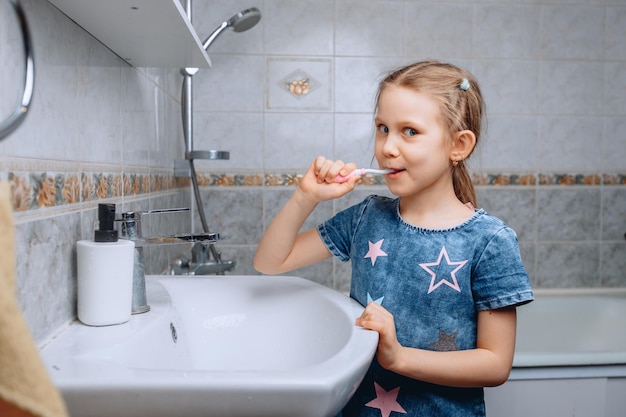
<path fill-rule="evenodd" d="M 478 311 L 533 300 L 515 232 L 482 209 L 456 227 L 431 230 L 405 222 L 399 199 L 369 196 L 318 231 L 333 255 L 352 261 L 350 296 L 393 314 L 403 346 L 474 349 Z M 374 359 L 342 416 L 403 414 L 484 416 L 483 389 L 421 382 Z"/>

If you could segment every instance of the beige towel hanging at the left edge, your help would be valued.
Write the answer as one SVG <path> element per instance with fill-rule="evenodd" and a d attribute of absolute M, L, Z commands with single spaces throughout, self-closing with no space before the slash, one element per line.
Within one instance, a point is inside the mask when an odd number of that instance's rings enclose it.
<path fill-rule="evenodd" d="M 0 182 L 0 416 L 66 417 L 15 297 L 11 190 Z"/>

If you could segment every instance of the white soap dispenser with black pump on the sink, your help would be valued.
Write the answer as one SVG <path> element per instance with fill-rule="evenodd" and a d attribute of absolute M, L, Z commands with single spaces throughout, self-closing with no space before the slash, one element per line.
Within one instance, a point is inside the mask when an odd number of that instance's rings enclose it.
<path fill-rule="evenodd" d="M 98 223 L 93 240 L 76 242 L 78 319 L 108 326 L 130 319 L 135 243 L 118 239 L 115 204 L 98 204 Z"/>

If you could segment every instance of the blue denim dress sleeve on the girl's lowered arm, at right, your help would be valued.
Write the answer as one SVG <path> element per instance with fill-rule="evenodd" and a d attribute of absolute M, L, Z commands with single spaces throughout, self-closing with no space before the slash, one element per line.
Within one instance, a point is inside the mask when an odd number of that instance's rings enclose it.
<path fill-rule="evenodd" d="M 519 306 L 533 300 L 513 229 L 502 227 L 485 246 L 472 271 L 472 292 L 479 311 Z"/>

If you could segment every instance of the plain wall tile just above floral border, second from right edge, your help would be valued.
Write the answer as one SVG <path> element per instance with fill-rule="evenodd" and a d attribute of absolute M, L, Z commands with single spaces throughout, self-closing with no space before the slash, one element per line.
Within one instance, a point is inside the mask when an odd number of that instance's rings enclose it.
<path fill-rule="evenodd" d="M 557 172 L 597 172 L 602 165 L 603 125 L 601 117 L 540 117 L 537 167 Z"/>

